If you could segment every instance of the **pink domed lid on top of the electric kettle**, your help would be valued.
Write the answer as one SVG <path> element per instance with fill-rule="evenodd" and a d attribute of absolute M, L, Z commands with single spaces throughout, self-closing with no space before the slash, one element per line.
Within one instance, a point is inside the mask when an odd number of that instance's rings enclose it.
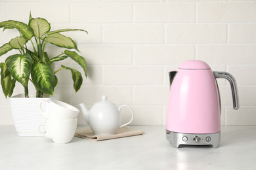
<path fill-rule="evenodd" d="M 211 69 L 211 67 L 200 60 L 188 60 L 179 65 L 179 69 Z"/>

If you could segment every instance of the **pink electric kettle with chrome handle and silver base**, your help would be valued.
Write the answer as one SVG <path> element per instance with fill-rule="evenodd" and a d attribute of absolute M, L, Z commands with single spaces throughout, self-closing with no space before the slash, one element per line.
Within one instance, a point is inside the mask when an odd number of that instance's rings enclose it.
<path fill-rule="evenodd" d="M 181 144 L 219 146 L 221 139 L 221 100 L 215 78 L 231 85 L 233 107 L 239 109 L 236 80 L 226 72 L 211 71 L 204 61 L 188 60 L 169 72 L 166 138 L 178 148 Z"/>

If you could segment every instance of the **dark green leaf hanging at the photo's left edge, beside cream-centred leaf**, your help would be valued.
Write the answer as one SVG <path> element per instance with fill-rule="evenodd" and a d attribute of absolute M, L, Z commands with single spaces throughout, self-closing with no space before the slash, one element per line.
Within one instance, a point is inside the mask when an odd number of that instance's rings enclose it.
<path fill-rule="evenodd" d="M 5 63 L 0 63 L 1 68 L 1 86 L 5 97 L 11 97 L 13 89 L 15 87 L 15 80 L 12 79 L 8 70 L 8 66 Z"/>

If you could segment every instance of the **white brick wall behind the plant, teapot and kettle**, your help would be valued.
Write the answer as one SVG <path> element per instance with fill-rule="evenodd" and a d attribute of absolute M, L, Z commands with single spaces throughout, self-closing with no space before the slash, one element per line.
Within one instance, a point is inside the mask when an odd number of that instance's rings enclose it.
<path fill-rule="evenodd" d="M 165 125 L 169 95 L 168 71 L 187 59 L 202 59 L 213 71 L 236 78 L 240 110 L 232 109 L 230 84 L 217 80 L 221 91 L 223 125 L 256 125 L 256 1 L 240 0 L 2 0 L 0 22 L 28 16 L 46 18 L 53 30 L 78 44 L 88 63 L 88 77 L 77 94 L 69 71 L 58 73 L 55 93 L 62 101 L 91 107 L 102 95 L 117 105 L 131 105 L 132 124 Z M 0 30 L 0 45 L 17 35 Z M 60 50 L 47 47 L 53 57 Z M 14 54 L 10 52 L 9 54 Z M 7 56 L 1 56 L 4 61 Z M 62 61 L 79 71 L 70 59 Z M 60 68 L 60 63 L 54 69 Z M 30 88 L 31 92 L 35 92 Z M 14 93 L 22 93 L 16 84 Z M 12 123 L 9 100 L 0 93 L 0 125 Z M 123 122 L 129 120 L 123 109 Z M 79 114 L 79 124 L 85 124 Z"/>

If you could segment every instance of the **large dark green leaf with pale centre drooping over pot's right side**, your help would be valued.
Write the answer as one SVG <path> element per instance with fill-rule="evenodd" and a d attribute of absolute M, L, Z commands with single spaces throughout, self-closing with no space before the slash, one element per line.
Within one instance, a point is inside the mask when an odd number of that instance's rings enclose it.
<path fill-rule="evenodd" d="M 49 95 L 53 95 L 55 78 L 50 65 L 43 62 L 33 63 L 31 77 L 37 90 Z"/>

